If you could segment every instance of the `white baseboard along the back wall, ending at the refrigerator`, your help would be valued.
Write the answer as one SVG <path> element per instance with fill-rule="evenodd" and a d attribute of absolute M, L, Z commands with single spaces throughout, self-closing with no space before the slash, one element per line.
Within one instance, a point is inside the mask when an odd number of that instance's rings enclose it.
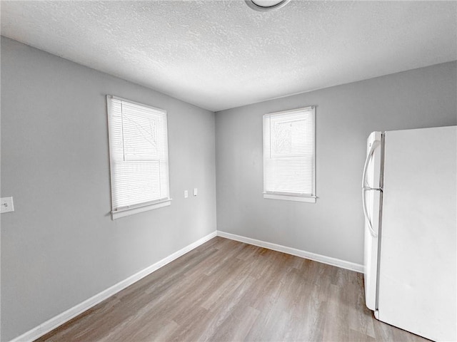
<path fill-rule="evenodd" d="M 296 257 L 301 257 L 301 258 L 305 258 L 305 259 L 322 262 L 323 264 L 341 267 L 341 269 L 349 269 L 351 271 L 363 273 L 363 265 L 355 264 L 350 261 L 344 261 L 341 259 L 326 257 L 325 255 L 321 255 L 321 254 L 306 252 L 306 251 L 302 251 L 301 249 L 295 249 L 295 248 L 291 248 L 291 247 L 282 246 L 281 244 L 272 244 L 271 242 L 264 242 L 261 240 L 251 239 L 250 237 L 241 237 L 240 235 L 221 232 L 219 230 L 217 231 L 217 236 L 226 237 L 227 239 L 244 242 L 246 244 L 253 244 L 254 246 L 258 246 L 258 247 L 272 249 L 273 251 L 277 251 L 277 252 L 283 252 L 286 254 L 295 255 Z"/>

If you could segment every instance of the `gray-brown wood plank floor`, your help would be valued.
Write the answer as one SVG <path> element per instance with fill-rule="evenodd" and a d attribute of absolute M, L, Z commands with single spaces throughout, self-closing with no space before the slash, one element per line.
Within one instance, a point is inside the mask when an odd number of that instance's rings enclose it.
<path fill-rule="evenodd" d="M 366 309 L 363 275 L 216 237 L 36 341 L 428 341 Z"/>

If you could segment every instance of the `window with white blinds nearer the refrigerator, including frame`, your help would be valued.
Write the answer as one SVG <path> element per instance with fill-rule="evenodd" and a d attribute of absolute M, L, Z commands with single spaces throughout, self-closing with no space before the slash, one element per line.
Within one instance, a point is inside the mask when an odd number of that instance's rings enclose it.
<path fill-rule="evenodd" d="M 263 197 L 316 202 L 315 108 L 263 115 Z"/>

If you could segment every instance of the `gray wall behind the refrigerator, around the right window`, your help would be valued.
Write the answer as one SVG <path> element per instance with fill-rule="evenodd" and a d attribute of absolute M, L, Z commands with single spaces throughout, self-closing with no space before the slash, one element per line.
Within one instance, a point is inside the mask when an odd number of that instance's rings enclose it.
<path fill-rule="evenodd" d="M 456 62 L 216 113 L 218 230 L 363 263 L 361 176 L 373 130 L 457 124 Z M 262 115 L 316 105 L 316 204 L 263 199 Z"/>

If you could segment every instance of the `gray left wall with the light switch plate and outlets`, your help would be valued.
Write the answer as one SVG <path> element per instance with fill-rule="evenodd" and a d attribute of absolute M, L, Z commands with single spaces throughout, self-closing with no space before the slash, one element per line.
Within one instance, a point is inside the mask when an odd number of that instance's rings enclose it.
<path fill-rule="evenodd" d="M 111 220 L 106 94 L 167 110 L 170 207 Z M 1 38 L 1 341 L 216 230 L 214 120 Z"/>

